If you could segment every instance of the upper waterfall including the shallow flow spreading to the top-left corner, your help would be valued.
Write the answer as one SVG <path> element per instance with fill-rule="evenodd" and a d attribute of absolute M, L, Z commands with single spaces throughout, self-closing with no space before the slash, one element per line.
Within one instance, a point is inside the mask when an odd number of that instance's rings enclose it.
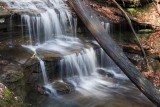
<path fill-rule="evenodd" d="M 37 45 L 56 36 L 76 36 L 77 19 L 72 18 L 65 0 L 1 0 L 21 14 L 23 35 L 30 45 Z"/>

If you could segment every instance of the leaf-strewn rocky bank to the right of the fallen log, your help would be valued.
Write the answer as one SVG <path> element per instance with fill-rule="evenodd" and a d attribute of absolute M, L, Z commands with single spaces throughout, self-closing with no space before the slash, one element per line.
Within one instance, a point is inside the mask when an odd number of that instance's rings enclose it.
<path fill-rule="evenodd" d="M 130 26 L 125 20 L 123 13 L 109 0 L 103 2 L 103 0 L 94 1 L 91 0 L 90 5 L 95 11 L 101 14 L 100 17 L 107 18 L 111 23 L 111 31 L 117 31 L 119 33 L 111 32 L 113 39 L 115 39 L 119 45 L 126 52 L 127 57 L 137 68 L 144 73 L 144 75 L 153 82 L 155 86 L 160 87 L 160 57 L 159 57 L 159 43 L 160 43 L 160 15 L 155 4 L 152 1 L 137 0 L 136 4 L 131 1 L 124 1 L 120 3 L 125 12 L 130 17 L 133 27 L 139 36 L 142 46 L 145 49 L 149 64 L 153 71 L 148 71 L 145 65 L 145 61 L 134 37 Z M 158 2 L 158 1 L 157 1 Z M 130 3 L 130 5 L 128 5 Z M 124 5 L 126 4 L 126 5 Z M 157 4 L 159 6 L 160 4 Z M 114 30 L 113 30 L 114 29 Z M 119 36 L 118 36 L 119 35 Z"/>

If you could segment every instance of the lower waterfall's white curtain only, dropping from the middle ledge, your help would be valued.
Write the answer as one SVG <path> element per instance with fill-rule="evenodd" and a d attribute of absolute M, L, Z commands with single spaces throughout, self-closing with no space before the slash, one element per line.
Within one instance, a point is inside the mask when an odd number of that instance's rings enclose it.
<path fill-rule="evenodd" d="M 61 78 L 77 86 L 87 76 L 96 73 L 97 58 L 93 48 L 64 56 L 60 61 Z"/>

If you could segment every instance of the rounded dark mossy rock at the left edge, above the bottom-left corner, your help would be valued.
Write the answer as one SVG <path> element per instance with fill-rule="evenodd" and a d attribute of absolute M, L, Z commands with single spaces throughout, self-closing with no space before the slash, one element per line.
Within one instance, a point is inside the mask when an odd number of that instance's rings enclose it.
<path fill-rule="evenodd" d="M 1 79 L 4 82 L 16 82 L 23 78 L 23 70 L 20 66 L 15 64 L 9 64 L 3 68 L 4 74 Z"/>

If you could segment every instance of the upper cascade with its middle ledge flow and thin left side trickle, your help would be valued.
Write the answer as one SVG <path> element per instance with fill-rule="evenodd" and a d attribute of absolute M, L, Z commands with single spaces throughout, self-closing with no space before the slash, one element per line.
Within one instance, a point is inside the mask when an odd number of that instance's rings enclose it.
<path fill-rule="evenodd" d="M 7 0 L 4 2 L 13 10 L 25 12 L 21 15 L 21 22 L 24 25 L 22 36 L 28 37 L 29 42 L 24 46 L 35 52 L 40 62 L 45 87 L 51 90 L 45 63 L 36 51 L 41 48 L 66 54 L 65 47 L 71 46 L 72 42 L 78 40 L 72 38 L 76 36 L 77 19 L 72 18 L 64 0 Z"/>

